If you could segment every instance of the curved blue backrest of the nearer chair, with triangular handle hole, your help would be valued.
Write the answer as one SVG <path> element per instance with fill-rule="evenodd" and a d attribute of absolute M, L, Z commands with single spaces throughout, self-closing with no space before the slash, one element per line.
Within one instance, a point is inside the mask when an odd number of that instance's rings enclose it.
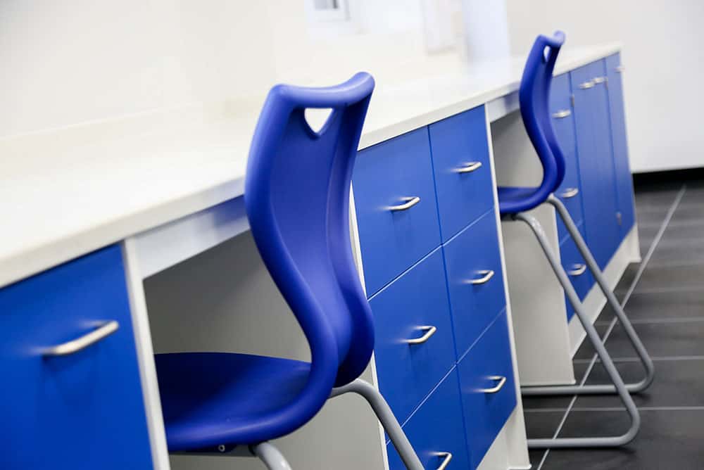
<path fill-rule="evenodd" d="M 363 72 L 334 87 L 277 85 L 249 153 L 247 215 L 262 259 L 310 345 L 310 376 L 296 406 L 313 414 L 332 386 L 361 374 L 374 348 L 349 230 L 352 169 L 373 89 Z M 332 109 L 318 132 L 308 125 L 306 108 Z"/>

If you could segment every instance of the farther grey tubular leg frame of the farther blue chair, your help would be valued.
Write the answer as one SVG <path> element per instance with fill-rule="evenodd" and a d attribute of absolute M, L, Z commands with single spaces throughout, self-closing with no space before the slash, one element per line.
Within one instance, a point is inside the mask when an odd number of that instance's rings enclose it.
<path fill-rule="evenodd" d="M 641 338 L 639 338 L 638 334 L 636 333 L 636 330 L 633 328 L 631 321 L 626 316 L 613 291 L 611 291 L 611 289 L 609 288 L 608 283 L 601 272 L 601 269 L 599 269 L 598 265 L 596 264 L 596 260 L 594 260 L 594 257 L 591 254 L 591 250 L 589 250 L 589 247 L 586 246 L 586 243 L 582 238 L 582 234 L 579 233 L 577 225 L 574 224 L 574 220 L 572 220 L 570 212 L 567 212 L 567 208 L 565 208 L 565 205 L 562 203 L 562 201 L 560 201 L 560 199 L 556 198 L 554 194 L 551 194 L 548 197 L 547 202 L 555 207 L 555 210 L 560 215 L 562 222 L 565 222 L 565 227 L 567 227 L 567 231 L 570 232 L 570 236 L 572 236 L 572 239 L 577 245 L 579 252 L 582 253 L 582 257 L 584 257 L 586 265 L 589 266 L 591 274 L 593 274 L 594 279 L 596 279 L 597 284 L 599 284 L 599 287 L 601 288 L 601 291 L 606 296 L 609 305 L 614 310 L 616 317 L 618 318 L 620 324 L 623 326 L 623 329 L 626 332 L 629 341 L 631 341 L 631 345 L 633 345 L 633 348 L 638 353 L 638 357 L 641 360 L 641 364 L 643 364 L 643 368 L 646 371 L 646 376 L 643 377 L 641 381 L 635 383 L 627 383 L 627 390 L 631 393 L 638 393 L 645 390 L 646 388 L 648 388 L 648 386 L 650 386 L 650 383 L 653 383 L 653 377 L 655 376 L 655 367 L 653 366 L 653 360 L 650 359 L 650 355 L 648 355 L 648 351 L 643 345 Z M 521 393 L 522 395 L 600 395 L 617 393 L 617 390 L 614 386 L 608 384 L 532 386 L 522 387 Z"/>

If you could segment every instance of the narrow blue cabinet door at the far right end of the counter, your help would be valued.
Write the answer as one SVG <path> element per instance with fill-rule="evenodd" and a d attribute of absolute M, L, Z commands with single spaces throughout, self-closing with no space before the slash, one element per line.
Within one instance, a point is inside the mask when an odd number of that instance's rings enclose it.
<path fill-rule="evenodd" d="M 620 53 L 606 58 L 606 76 L 608 77 L 609 110 L 611 115 L 614 163 L 616 166 L 618 209 L 620 212 L 621 239 L 623 239 L 635 224 L 636 216 L 633 202 L 633 177 L 631 176 L 631 167 L 628 163 L 626 117 L 624 113 L 621 70 Z"/>

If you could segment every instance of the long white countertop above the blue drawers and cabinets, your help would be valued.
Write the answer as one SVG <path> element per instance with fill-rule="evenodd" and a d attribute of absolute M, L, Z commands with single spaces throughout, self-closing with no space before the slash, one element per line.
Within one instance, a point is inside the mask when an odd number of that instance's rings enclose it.
<path fill-rule="evenodd" d="M 555 73 L 619 50 L 565 48 Z M 376 75 L 360 148 L 516 91 L 523 65 L 434 56 L 411 80 Z M 0 286 L 241 196 L 263 99 L 0 139 Z"/>

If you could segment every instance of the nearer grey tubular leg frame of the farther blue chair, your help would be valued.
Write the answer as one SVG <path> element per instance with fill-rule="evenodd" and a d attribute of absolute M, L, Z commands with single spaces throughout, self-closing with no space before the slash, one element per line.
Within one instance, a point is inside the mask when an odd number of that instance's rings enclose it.
<path fill-rule="evenodd" d="M 545 253 L 546 258 L 548 258 L 548 262 L 550 262 L 550 265 L 553 268 L 555 275 L 558 277 L 558 281 L 560 281 L 560 284 L 562 284 L 562 288 L 565 289 L 567 298 L 570 300 L 570 303 L 572 303 L 572 306 L 574 307 L 575 315 L 577 315 L 577 318 L 579 318 L 579 321 L 584 327 L 584 331 L 586 331 L 587 338 L 589 338 L 589 341 L 591 341 L 594 349 L 596 350 L 596 354 L 598 355 L 599 359 L 601 359 L 601 362 L 604 368 L 606 369 L 606 372 L 608 373 L 611 381 L 614 383 L 615 390 L 617 390 L 618 395 L 620 396 L 629 416 L 631 417 L 630 428 L 628 429 L 628 431 L 626 431 L 626 433 L 622 434 L 621 436 L 529 439 L 528 447 L 531 449 L 554 449 L 569 447 L 617 447 L 631 442 L 631 440 L 636 437 L 636 434 L 638 433 L 639 428 L 641 427 L 641 416 L 638 412 L 638 409 L 636 408 L 635 403 L 633 402 L 633 398 L 631 398 L 631 395 L 629 394 L 626 388 L 626 384 L 623 382 L 623 379 L 618 373 L 616 366 L 611 360 L 609 353 L 601 342 L 599 334 L 596 332 L 596 329 L 594 328 L 593 324 L 591 324 L 591 321 L 589 320 L 589 317 L 587 317 L 586 312 L 584 312 L 584 307 L 579 301 L 579 296 L 577 296 L 577 292 L 574 291 L 574 287 L 572 287 L 570 278 L 567 277 L 567 273 L 565 272 L 565 269 L 562 268 L 560 260 L 558 260 L 558 257 L 555 255 L 555 253 L 553 253 L 553 250 L 550 247 L 550 244 L 548 243 L 548 239 L 545 235 L 545 232 L 543 231 L 543 227 L 541 227 L 540 222 L 538 222 L 538 220 L 536 220 L 536 218 L 532 215 L 527 215 L 523 213 L 516 214 L 513 216 L 513 218 L 514 220 L 521 220 L 522 222 L 527 223 L 532 229 L 536 238 L 538 239 L 538 242 L 541 248 L 543 249 L 543 253 Z"/>

